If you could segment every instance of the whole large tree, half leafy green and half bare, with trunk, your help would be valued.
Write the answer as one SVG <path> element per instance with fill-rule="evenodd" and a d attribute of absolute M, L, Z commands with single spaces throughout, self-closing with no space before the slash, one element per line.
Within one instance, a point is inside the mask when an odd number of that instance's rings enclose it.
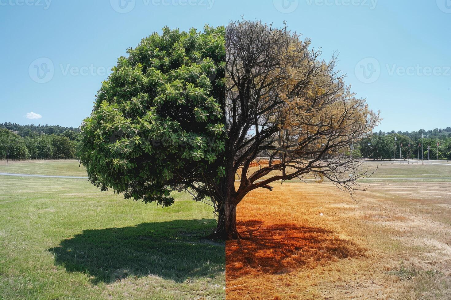
<path fill-rule="evenodd" d="M 209 199 L 211 237 L 224 239 L 239 238 L 237 204 L 275 180 L 313 173 L 352 191 L 365 172 L 350 151 L 379 116 L 350 92 L 335 58 L 309 47 L 286 27 L 249 21 L 143 39 L 82 125 L 89 180 L 163 206 L 173 190 Z M 263 153 L 267 165 L 252 169 Z"/>

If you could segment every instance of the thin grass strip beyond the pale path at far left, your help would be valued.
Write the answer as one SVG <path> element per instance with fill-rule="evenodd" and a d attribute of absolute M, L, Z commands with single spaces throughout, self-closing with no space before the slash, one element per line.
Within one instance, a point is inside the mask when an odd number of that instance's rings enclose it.
<path fill-rule="evenodd" d="M 34 161 L 12 162 L 8 166 L 0 165 L 0 173 L 33 174 L 33 175 L 57 175 L 86 177 L 86 168 L 79 166 L 78 161 Z"/>

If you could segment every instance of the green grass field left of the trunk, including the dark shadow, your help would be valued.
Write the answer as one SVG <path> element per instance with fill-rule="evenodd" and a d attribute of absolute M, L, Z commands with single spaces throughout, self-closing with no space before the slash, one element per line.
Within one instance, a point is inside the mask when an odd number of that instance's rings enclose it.
<path fill-rule="evenodd" d="M 224 299 L 224 244 L 202 239 L 211 207 L 174 196 L 162 208 L 84 179 L 0 176 L 0 299 Z"/>

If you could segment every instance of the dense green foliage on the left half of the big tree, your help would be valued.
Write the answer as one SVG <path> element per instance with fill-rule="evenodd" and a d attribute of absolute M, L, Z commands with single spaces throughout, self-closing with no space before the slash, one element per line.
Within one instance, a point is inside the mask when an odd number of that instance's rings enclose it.
<path fill-rule="evenodd" d="M 224 175 L 224 34 L 165 27 L 118 59 L 82 126 L 93 184 L 163 206 L 174 188 L 208 196 Z"/>

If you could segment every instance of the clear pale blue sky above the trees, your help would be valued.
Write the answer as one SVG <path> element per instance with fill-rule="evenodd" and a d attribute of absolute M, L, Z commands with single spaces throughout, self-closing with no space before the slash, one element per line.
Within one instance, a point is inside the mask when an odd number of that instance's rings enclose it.
<path fill-rule="evenodd" d="M 338 51 L 347 83 L 382 112 L 377 130 L 451 126 L 451 0 L 0 0 L 0 122 L 77 127 L 143 37 L 241 15 L 287 21 L 324 59 Z"/>

